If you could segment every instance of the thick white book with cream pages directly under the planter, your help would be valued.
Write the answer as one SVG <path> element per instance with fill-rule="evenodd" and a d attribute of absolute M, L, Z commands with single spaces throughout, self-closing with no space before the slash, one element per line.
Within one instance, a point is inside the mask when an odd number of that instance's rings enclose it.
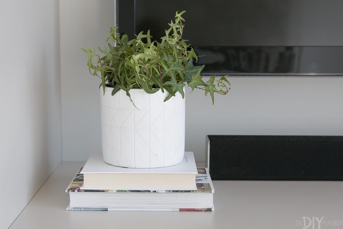
<path fill-rule="evenodd" d="M 132 169 L 107 164 L 101 152 L 94 152 L 81 174 L 84 190 L 196 190 L 197 166 L 193 152 L 185 152 L 179 164 L 153 169 Z"/>

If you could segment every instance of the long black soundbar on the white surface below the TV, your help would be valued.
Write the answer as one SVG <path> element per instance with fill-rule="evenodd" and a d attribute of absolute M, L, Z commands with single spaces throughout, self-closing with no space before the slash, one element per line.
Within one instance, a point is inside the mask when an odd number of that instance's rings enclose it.
<path fill-rule="evenodd" d="M 208 135 L 213 180 L 343 180 L 343 136 Z"/>

